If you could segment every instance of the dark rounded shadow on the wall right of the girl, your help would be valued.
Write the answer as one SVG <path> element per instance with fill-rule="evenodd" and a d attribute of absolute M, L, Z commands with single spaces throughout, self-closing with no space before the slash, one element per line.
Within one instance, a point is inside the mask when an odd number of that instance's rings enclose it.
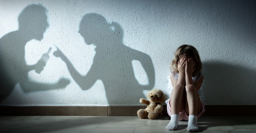
<path fill-rule="evenodd" d="M 219 61 L 203 63 L 204 87 L 207 99 L 217 104 L 254 104 L 256 101 L 256 70 Z M 241 101 L 242 100 L 242 101 Z"/>

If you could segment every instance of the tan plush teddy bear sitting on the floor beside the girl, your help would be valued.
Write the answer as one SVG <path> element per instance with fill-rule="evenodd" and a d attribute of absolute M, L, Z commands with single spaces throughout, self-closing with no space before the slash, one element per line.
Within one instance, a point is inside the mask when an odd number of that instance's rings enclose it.
<path fill-rule="evenodd" d="M 137 111 L 137 115 L 144 119 L 148 116 L 149 119 L 153 120 L 159 116 L 162 116 L 163 103 L 165 101 L 164 92 L 159 89 L 154 89 L 148 93 L 149 100 L 144 98 L 140 99 L 140 103 L 148 105 L 146 109 L 140 109 Z"/>

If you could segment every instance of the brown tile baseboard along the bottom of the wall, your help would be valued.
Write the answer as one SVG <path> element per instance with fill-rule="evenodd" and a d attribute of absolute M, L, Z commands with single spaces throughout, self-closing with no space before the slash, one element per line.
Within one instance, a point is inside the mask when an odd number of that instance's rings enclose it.
<path fill-rule="evenodd" d="M 168 115 L 163 105 L 163 115 Z M 137 116 L 144 105 L 108 105 L 108 106 L 0 106 L 0 115 L 20 116 Z M 256 105 L 205 105 L 204 115 L 256 115 Z"/>

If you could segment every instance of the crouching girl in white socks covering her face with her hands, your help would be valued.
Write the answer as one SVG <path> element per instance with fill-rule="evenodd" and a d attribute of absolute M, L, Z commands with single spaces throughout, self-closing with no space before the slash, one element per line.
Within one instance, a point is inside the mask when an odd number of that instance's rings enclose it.
<path fill-rule="evenodd" d="M 168 77 L 170 99 L 166 100 L 167 112 L 171 116 L 168 130 L 176 130 L 179 121 L 188 121 L 188 131 L 196 132 L 197 119 L 204 114 L 204 94 L 201 74 L 202 63 L 195 47 L 181 45 L 174 53 L 171 74 Z"/>

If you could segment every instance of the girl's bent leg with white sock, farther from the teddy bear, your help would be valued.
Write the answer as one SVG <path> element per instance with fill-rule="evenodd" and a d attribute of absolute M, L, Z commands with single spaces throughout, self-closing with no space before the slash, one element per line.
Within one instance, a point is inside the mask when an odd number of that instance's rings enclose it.
<path fill-rule="evenodd" d="M 196 132 L 197 127 L 197 114 L 201 111 L 201 100 L 194 85 L 186 85 L 187 101 L 185 105 L 186 113 L 188 116 L 188 131 Z"/>

